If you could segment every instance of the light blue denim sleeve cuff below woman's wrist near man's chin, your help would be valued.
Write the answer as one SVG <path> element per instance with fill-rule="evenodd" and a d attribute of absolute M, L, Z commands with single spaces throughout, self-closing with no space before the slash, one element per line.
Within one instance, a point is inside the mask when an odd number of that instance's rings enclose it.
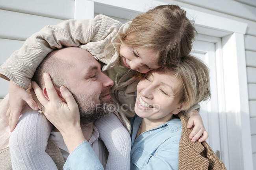
<path fill-rule="evenodd" d="M 104 170 L 93 148 L 83 141 L 70 153 L 63 170 Z"/>

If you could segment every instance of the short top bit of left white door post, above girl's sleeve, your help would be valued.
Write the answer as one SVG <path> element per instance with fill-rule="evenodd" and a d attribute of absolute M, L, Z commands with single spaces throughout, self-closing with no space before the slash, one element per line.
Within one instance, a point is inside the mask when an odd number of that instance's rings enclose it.
<path fill-rule="evenodd" d="M 93 19 L 94 2 L 90 0 L 75 0 L 74 19 Z"/>

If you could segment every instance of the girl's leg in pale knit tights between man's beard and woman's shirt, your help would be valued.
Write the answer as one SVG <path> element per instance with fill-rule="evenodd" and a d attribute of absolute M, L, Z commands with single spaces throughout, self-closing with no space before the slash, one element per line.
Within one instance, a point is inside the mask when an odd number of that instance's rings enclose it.
<path fill-rule="evenodd" d="M 110 113 L 95 126 L 109 152 L 105 170 L 130 170 L 131 138 L 119 119 Z"/>

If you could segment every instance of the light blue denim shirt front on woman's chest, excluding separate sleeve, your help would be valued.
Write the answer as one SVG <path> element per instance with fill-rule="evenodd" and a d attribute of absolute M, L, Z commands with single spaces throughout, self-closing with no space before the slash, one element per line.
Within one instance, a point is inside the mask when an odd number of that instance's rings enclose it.
<path fill-rule="evenodd" d="M 136 139 L 142 118 L 132 119 L 131 170 L 178 170 L 182 123 L 179 118 L 141 133 Z"/>

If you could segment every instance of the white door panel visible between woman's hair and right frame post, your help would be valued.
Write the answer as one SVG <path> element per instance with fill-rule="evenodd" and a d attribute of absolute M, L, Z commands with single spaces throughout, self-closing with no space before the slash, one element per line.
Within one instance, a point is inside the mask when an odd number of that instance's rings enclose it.
<path fill-rule="evenodd" d="M 210 69 L 211 99 L 200 102 L 200 115 L 209 133 L 206 140 L 218 157 L 221 157 L 221 140 L 218 111 L 215 43 L 202 40 L 193 42 L 191 55 L 200 58 Z"/>

